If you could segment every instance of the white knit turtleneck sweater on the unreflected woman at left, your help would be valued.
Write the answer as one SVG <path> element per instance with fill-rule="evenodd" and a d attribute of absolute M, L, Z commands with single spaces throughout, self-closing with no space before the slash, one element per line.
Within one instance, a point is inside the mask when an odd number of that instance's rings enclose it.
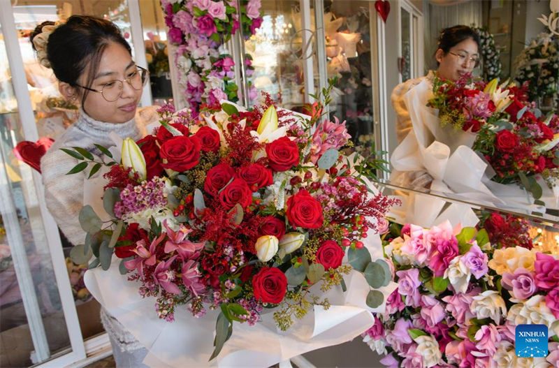
<path fill-rule="evenodd" d="M 135 140 L 142 138 L 146 135 L 145 126 L 157 120 L 156 109 L 157 106 L 138 109 L 134 119 L 122 124 L 98 122 L 82 110 L 78 121 L 61 135 L 41 159 L 47 207 L 55 217 L 62 233 L 72 244 L 83 244 L 85 241 L 85 232 L 80 226 L 78 215 L 83 207 L 84 180 L 89 170 L 66 175 L 66 172 L 78 164 L 78 160 L 61 151 L 60 148 L 82 147 L 92 154 L 98 155 L 101 152 L 94 146 L 94 143 L 107 148 L 115 145 L 109 138 L 110 132 L 114 131 L 122 138 L 130 137 Z M 143 348 L 104 309 L 101 311 L 101 322 L 108 334 L 117 341 L 121 351 Z"/>

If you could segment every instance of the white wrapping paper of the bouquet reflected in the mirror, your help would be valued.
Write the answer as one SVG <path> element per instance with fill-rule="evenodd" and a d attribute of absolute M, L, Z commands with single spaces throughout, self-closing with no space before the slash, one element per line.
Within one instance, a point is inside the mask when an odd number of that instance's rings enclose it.
<path fill-rule="evenodd" d="M 391 164 L 395 169 L 391 182 L 412 187 L 417 182 L 425 183 L 416 180 L 418 177 L 430 177 L 433 178 L 430 189 L 435 193 L 502 209 L 545 212 L 543 206 L 534 205 L 531 194 L 520 186 L 491 182 L 495 172 L 470 148 L 475 135 L 457 131 L 452 126 L 440 126 L 437 110 L 426 106 L 433 97 L 431 88 L 429 82 L 423 80 L 405 95 L 412 131 L 391 156 Z M 543 189 L 540 200 L 546 204 L 545 207 L 559 208 L 559 188 L 551 190 L 542 179 L 538 179 L 538 182 Z M 414 200 L 419 200 L 419 196 L 407 200 L 411 212 L 407 213 L 406 221 L 432 226 L 436 218 L 442 218 L 441 200 L 423 198 L 421 204 L 413 203 Z M 458 219 L 463 224 L 470 221 L 471 209 L 465 209 L 463 216 L 458 216 Z M 431 220 L 435 222 L 430 223 Z"/>

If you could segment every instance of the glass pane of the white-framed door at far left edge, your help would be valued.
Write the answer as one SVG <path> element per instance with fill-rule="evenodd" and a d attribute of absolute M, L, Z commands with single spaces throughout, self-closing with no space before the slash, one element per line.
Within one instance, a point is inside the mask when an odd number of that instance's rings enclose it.
<path fill-rule="evenodd" d="M 70 341 L 32 169 L 13 154 L 23 133 L 1 35 L 0 362 L 27 367 L 68 351 Z"/>

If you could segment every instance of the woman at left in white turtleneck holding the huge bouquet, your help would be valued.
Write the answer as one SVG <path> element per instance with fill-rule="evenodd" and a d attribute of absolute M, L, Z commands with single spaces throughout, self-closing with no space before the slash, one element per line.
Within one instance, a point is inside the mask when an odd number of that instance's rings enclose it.
<path fill-rule="evenodd" d="M 77 146 L 100 154 L 94 144 L 114 146 L 112 132 L 142 138 L 147 122 L 157 117 L 154 108 L 137 111 L 147 71 L 136 66 L 130 45 L 115 24 L 96 17 L 74 15 L 58 26 L 45 22 L 31 34 L 31 41 L 41 64 L 54 71 L 62 96 L 81 105 L 78 121 L 41 159 L 41 171 L 48 209 L 68 240 L 83 244 L 78 214 L 86 174 L 66 175 L 78 161 L 60 148 Z M 104 310 L 101 321 L 117 367 L 146 367 L 142 364 L 146 349 Z"/>

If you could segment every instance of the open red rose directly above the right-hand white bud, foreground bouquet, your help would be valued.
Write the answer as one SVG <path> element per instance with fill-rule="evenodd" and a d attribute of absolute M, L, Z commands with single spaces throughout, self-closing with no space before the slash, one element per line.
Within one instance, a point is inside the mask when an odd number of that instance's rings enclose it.
<path fill-rule="evenodd" d="M 322 207 L 305 189 L 287 200 L 287 219 L 293 227 L 317 229 L 322 226 Z"/>

